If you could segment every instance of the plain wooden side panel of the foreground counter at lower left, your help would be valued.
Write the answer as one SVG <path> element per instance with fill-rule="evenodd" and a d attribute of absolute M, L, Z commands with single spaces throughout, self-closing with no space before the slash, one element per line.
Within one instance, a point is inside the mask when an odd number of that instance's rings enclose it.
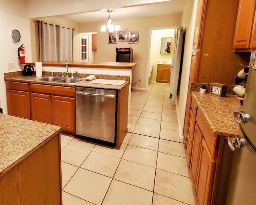
<path fill-rule="evenodd" d="M 62 205 L 60 131 L 1 173 L 0 193 L 1 205 Z"/>

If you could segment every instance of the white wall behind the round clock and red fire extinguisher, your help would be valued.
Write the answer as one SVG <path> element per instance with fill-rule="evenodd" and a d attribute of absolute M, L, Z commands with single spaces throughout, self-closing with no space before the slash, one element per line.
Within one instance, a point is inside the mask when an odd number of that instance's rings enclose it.
<path fill-rule="evenodd" d="M 18 64 L 18 48 L 21 44 L 26 48 L 26 62 L 31 61 L 30 21 L 19 16 L 26 11 L 22 1 L 1 0 L 0 4 L 0 107 L 4 109 L 4 113 L 7 113 L 4 73 L 22 70 Z M 20 31 L 20 42 L 12 42 L 10 38 L 12 29 Z M 7 63 L 14 63 L 15 69 L 8 70 Z"/>

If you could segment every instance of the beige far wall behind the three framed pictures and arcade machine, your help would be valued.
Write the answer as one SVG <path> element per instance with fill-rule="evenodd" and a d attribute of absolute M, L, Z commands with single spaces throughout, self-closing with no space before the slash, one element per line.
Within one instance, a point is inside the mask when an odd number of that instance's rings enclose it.
<path fill-rule="evenodd" d="M 115 62 L 116 47 L 128 48 L 132 47 L 134 51 L 133 62 L 138 62 L 138 65 L 133 71 L 133 82 L 141 80 L 134 88 L 146 88 L 147 62 L 149 52 L 149 31 L 150 28 L 172 27 L 179 26 L 181 23 L 182 14 L 174 14 L 167 16 L 156 16 L 150 18 L 127 18 L 113 19 L 117 22 L 121 29 L 129 31 L 139 31 L 139 43 L 128 44 L 128 42 L 117 42 L 117 44 L 108 44 L 108 32 L 99 32 L 101 25 L 104 22 L 93 22 L 80 24 L 79 32 L 97 32 L 97 60 L 98 62 Z"/>

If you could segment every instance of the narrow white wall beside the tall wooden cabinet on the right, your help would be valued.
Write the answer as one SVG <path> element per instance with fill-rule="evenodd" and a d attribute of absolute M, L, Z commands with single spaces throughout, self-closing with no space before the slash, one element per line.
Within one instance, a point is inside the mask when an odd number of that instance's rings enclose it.
<path fill-rule="evenodd" d="M 185 47 L 184 47 L 180 90 L 176 98 L 176 105 L 178 110 L 178 121 L 180 126 L 181 137 L 183 135 L 184 118 L 185 118 L 185 111 L 186 111 L 186 100 L 187 100 L 187 92 L 188 92 L 188 81 L 189 81 L 189 74 L 190 74 L 197 1 L 198 0 L 187 0 L 182 13 L 181 26 L 183 26 L 183 28 L 186 28 L 186 39 L 185 39 Z"/>

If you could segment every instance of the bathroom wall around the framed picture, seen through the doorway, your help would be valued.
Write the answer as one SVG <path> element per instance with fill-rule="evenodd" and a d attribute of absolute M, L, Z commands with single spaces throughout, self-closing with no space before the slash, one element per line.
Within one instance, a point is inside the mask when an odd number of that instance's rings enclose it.
<path fill-rule="evenodd" d="M 158 61 L 172 62 L 173 43 L 175 29 L 160 29 L 152 30 L 150 44 L 150 64 L 153 64 L 153 70 L 149 81 L 156 81 L 156 71 Z M 172 37 L 172 52 L 171 54 L 160 54 L 161 38 Z"/>

